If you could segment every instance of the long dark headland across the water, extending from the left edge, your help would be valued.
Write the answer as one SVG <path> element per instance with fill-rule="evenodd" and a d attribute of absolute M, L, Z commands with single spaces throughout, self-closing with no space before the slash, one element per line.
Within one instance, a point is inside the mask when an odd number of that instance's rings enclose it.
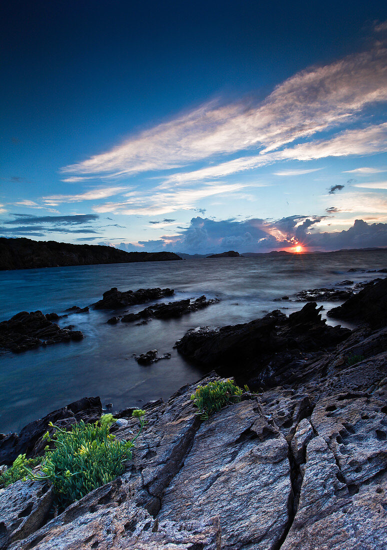
<path fill-rule="evenodd" d="M 174 252 L 125 252 L 112 246 L 0 238 L 0 270 L 181 260 Z"/>

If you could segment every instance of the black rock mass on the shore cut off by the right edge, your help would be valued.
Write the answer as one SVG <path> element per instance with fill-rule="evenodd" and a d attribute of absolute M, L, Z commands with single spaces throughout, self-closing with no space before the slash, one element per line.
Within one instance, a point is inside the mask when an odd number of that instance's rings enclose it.
<path fill-rule="evenodd" d="M 387 278 L 366 285 L 344 304 L 328 312 L 329 317 L 366 322 L 373 327 L 387 324 Z"/>

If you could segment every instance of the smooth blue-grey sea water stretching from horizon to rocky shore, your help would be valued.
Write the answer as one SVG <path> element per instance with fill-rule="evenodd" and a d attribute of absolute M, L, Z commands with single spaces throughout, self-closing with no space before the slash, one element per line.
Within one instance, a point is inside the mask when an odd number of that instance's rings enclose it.
<path fill-rule="evenodd" d="M 218 296 L 220 303 L 178 320 L 152 320 L 147 325 L 106 324 L 112 312 L 69 315 L 60 326 L 74 324 L 82 342 L 56 344 L 22 354 L 0 355 L 0 432 L 18 431 L 27 422 L 84 396 L 100 395 L 113 410 L 168 398 L 176 389 L 202 376 L 172 349 L 175 341 L 197 326 L 251 321 L 273 309 L 285 313 L 303 303 L 274 301 L 299 290 L 359 282 L 375 273 L 348 273 L 350 268 L 387 267 L 386 252 L 340 252 L 329 256 L 230 258 L 178 262 L 57 267 L 0 272 L 0 321 L 19 311 L 63 312 L 90 305 L 111 287 L 120 290 L 174 288 L 174 299 Z M 338 305 L 323 304 L 325 310 Z M 130 311 L 139 311 L 134 306 Z M 337 324 L 332 322 L 331 324 Z M 132 357 L 157 348 L 172 359 L 140 366 Z"/>

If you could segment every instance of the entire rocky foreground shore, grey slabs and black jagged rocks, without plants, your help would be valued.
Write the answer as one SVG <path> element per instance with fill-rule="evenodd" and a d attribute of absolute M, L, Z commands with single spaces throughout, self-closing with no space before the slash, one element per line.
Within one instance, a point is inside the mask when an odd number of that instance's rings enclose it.
<path fill-rule="evenodd" d="M 387 547 L 386 306 L 383 279 L 334 311 L 359 323 L 352 331 L 327 326 L 313 302 L 289 317 L 189 331 L 178 351 L 207 374 L 145 405 L 124 474 L 58 516 L 44 482 L 0 489 L 0 548 Z M 201 420 L 190 395 L 219 376 L 248 388 Z M 114 413 L 118 440 L 135 431 L 132 410 Z M 0 463 L 41 454 L 49 421 L 65 429 L 101 412 L 87 398 L 0 437 Z"/>

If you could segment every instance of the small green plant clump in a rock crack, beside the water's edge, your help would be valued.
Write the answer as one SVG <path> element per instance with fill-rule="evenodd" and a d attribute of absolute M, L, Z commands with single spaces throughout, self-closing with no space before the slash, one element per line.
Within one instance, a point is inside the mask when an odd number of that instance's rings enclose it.
<path fill-rule="evenodd" d="M 241 400 L 243 391 L 231 380 L 209 382 L 206 386 L 198 386 L 191 395 L 191 401 L 199 409 L 201 419 L 207 420 L 214 411 L 222 409 L 229 403 Z"/>

